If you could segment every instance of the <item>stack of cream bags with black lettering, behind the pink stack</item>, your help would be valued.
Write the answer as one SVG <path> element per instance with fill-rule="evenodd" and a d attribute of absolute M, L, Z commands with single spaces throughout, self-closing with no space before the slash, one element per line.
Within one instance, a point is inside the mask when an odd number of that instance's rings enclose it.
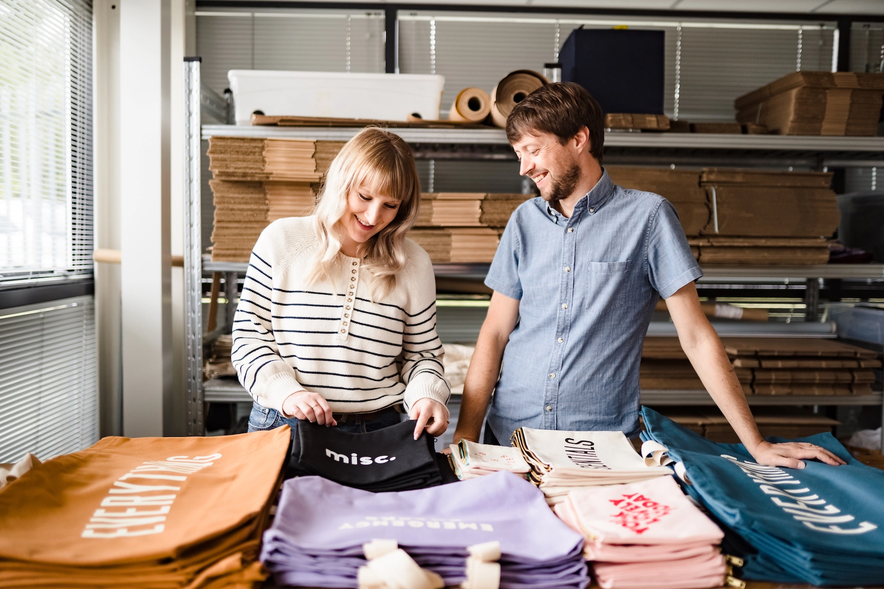
<path fill-rule="evenodd" d="M 616 485 L 667 476 L 665 466 L 648 466 L 622 432 L 562 432 L 520 427 L 511 440 L 531 470 L 529 479 L 550 504 L 576 487 Z"/>

